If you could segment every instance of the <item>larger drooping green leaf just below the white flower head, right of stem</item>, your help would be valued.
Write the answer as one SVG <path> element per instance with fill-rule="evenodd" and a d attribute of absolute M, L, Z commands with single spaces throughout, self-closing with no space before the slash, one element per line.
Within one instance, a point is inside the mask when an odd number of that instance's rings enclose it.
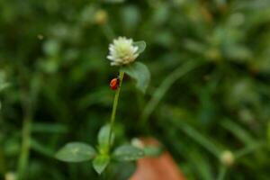
<path fill-rule="evenodd" d="M 122 67 L 121 70 L 136 80 L 136 86 L 142 93 L 146 92 L 150 82 L 150 72 L 147 66 L 141 62 L 134 62 Z"/>

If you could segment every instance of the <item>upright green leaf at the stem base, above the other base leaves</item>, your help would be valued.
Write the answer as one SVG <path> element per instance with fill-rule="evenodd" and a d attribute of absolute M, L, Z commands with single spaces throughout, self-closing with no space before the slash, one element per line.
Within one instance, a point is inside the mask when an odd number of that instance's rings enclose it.
<path fill-rule="evenodd" d="M 111 127 L 109 124 L 104 125 L 98 132 L 98 144 L 101 151 L 107 151 L 110 147 L 109 139 L 110 139 L 110 130 Z M 114 133 L 112 132 L 112 142 L 114 139 Z"/>

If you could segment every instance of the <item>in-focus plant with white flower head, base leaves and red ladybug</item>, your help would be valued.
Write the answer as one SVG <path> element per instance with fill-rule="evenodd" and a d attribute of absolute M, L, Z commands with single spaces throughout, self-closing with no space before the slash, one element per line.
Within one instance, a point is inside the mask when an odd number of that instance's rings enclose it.
<path fill-rule="evenodd" d="M 114 133 L 113 124 L 121 92 L 121 84 L 125 74 L 136 80 L 138 89 L 145 93 L 150 80 L 148 67 L 143 63 L 135 61 L 139 54 L 146 48 L 144 41 L 133 42 L 132 39 L 119 37 L 113 40 L 109 46 L 107 58 L 111 61 L 111 66 L 119 68 L 119 76 L 111 81 L 111 88 L 115 90 L 112 104 L 112 116 L 109 124 L 104 125 L 97 135 L 97 148 L 82 142 L 69 142 L 58 150 L 56 157 L 65 162 L 83 162 L 93 160 L 94 170 L 102 174 L 106 166 L 112 161 L 133 161 L 148 154 L 144 148 L 138 148 L 130 144 L 124 144 L 112 149 Z"/>

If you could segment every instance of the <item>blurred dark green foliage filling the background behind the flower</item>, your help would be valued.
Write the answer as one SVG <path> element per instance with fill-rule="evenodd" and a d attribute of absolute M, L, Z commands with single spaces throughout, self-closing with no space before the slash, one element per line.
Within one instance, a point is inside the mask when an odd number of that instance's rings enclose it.
<path fill-rule="evenodd" d="M 152 78 L 125 78 L 116 143 L 155 137 L 187 179 L 270 178 L 269 0 L 1 0 L 0 179 L 99 179 L 53 155 L 109 121 L 118 36 L 147 42 Z"/>

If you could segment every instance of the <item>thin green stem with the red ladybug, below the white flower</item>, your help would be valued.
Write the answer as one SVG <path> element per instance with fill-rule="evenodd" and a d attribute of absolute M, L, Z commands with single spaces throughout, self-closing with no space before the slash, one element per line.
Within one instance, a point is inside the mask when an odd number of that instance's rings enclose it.
<path fill-rule="evenodd" d="M 109 150 L 112 146 L 112 131 L 113 131 L 113 124 L 115 121 L 115 114 L 116 114 L 116 109 L 117 109 L 117 105 L 118 105 L 118 100 L 119 100 L 119 94 L 121 91 L 121 82 L 124 76 L 124 72 L 120 71 L 119 73 L 119 87 L 116 90 L 116 93 L 114 95 L 114 100 L 113 100 L 113 105 L 112 105 L 112 115 L 111 115 L 111 121 L 110 121 L 110 135 L 109 135 Z"/>

